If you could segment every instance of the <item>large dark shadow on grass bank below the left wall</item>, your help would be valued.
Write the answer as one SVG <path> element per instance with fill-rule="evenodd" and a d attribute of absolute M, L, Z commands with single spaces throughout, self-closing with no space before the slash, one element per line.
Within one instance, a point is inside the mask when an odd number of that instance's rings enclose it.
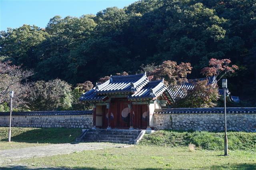
<path fill-rule="evenodd" d="M 19 129 L 14 129 L 19 130 Z M 78 128 L 38 128 L 21 132 L 12 132 L 13 142 L 26 142 L 26 143 L 50 143 L 61 144 L 71 143 L 76 141 L 76 137 L 81 134 L 81 129 Z M 6 132 L 8 133 L 8 132 Z M 0 141 L 7 141 L 4 138 Z"/>

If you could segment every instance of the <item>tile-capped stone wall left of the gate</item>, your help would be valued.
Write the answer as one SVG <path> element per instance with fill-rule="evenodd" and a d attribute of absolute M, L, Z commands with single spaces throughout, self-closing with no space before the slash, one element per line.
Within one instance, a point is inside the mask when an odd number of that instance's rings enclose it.
<path fill-rule="evenodd" d="M 13 112 L 12 126 L 92 128 L 92 111 Z M 9 126 L 10 113 L 0 112 L 0 126 Z"/>

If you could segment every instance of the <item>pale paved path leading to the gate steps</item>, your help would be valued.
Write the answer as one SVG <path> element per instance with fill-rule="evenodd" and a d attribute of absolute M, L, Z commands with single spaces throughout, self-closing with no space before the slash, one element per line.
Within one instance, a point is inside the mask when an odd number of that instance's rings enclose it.
<path fill-rule="evenodd" d="M 112 143 L 79 143 L 79 144 L 52 144 L 46 146 L 35 146 L 29 148 L 0 150 L 0 164 L 11 162 L 12 160 L 51 156 L 57 154 L 69 154 L 83 150 L 98 150 L 104 148 L 129 147 L 127 144 Z"/>

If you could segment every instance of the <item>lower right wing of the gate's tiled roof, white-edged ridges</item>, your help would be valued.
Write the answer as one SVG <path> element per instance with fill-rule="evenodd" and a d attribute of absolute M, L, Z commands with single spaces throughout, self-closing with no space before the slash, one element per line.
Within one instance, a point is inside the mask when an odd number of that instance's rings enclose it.
<path fill-rule="evenodd" d="M 138 93 L 128 96 L 129 100 L 141 99 L 141 98 L 157 98 L 165 90 L 166 86 L 163 83 L 163 80 L 150 81 L 146 86 L 144 86 Z"/>

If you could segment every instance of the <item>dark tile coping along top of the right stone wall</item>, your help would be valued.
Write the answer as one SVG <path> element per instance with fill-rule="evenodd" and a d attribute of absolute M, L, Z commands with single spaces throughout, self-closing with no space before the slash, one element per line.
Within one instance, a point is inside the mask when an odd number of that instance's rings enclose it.
<path fill-rule="evenodd" d="M 226 108 L 227 113 L 256 113 L 256 108 Z M 177 113 L 224 113 L 224 108 L 162 108 L 155 109 L 154 114 L 177 114 Z"/>

